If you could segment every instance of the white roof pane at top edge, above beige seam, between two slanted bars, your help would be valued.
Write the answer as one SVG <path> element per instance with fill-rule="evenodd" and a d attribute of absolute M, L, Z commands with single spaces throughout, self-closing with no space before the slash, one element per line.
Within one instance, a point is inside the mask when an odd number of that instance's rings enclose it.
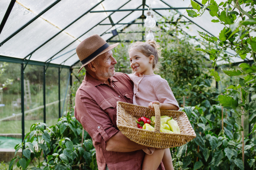
<path fill-rule="evenodd" d="M 86 2 L 83 0 L 62 0 L 42 16 L 63 29 L 97 3 L 99 0 L 87 0 Z"/>

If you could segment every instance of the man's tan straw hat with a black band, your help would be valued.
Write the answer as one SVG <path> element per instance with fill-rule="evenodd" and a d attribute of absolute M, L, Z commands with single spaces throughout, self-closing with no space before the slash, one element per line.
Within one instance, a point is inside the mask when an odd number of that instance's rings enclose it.
<path fill-rule="evenodd" d="M 76 54 L 80 59 L 82 66 L 81 69 L 89 64 L 93 59 L 96 59 L 99 55 L 115 48 L 119 43 L 109 45 L 102 37 L 98 34 L 94 34 L 87 39 L 83 40 L 77 47 L 76 47 Z M 77 73 L 79 73 L 79 71 Z"/>

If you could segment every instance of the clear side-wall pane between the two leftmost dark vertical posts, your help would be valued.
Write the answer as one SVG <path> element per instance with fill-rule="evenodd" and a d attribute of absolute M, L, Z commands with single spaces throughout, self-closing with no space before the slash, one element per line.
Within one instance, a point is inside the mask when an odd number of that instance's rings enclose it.
<path fill-rule="evenodd" d="M 25 133 L 35 122 L 44 122 L 44 67 L 27 65 L 24 73 Z"/>

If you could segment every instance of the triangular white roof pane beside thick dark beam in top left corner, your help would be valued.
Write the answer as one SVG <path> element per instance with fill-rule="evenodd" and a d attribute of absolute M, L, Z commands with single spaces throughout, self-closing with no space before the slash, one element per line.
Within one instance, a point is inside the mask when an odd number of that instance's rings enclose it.
<path fill-rule="evenodd" d="M 20 4 L 15 3 L 15 5 L 12 8 L 12 12 L 10 13 L 8 20 L 6 21 L 6 24 L 3 27 L 3 31 L 0 34 L 0 42 L 5 40 L 7 37 L 9 37 L 12 33 L 17 31 L 23 25 L 25 25 L 35 16 L 36 15 L 33 14 L 31 11 L 27 10 Z"/>

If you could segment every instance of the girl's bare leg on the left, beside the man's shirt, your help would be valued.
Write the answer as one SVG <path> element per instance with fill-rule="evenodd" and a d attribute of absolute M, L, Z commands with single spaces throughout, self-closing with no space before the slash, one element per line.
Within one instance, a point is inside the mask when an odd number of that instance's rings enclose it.
<path fill-rule="evenodd" d="M 152 155 L 145 154 L 142 164 L 142 170 L 157 170 L 159 167 L 165 149 L 155 149 Z"/>

